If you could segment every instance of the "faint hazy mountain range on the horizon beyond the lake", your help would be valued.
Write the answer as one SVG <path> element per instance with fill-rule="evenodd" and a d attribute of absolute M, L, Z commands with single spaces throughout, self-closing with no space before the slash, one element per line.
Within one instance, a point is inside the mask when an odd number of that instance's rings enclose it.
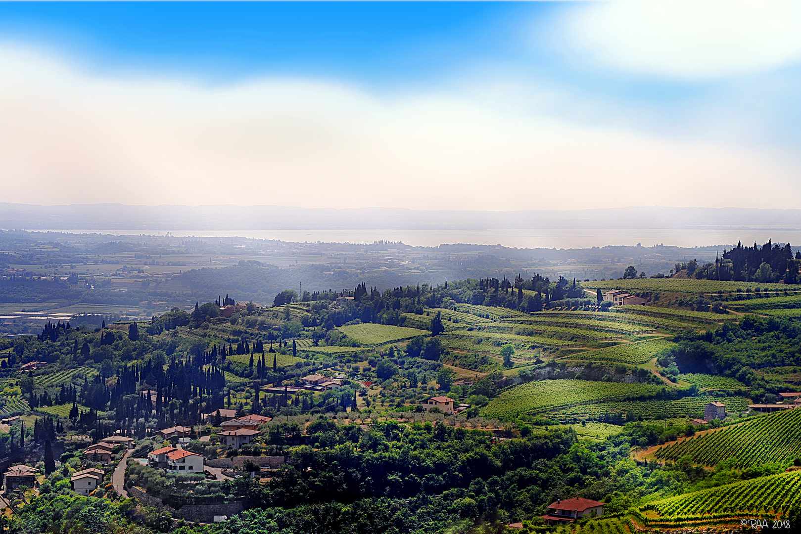
<path fill-rule="evenodd" d="M 402 208 L 286 206 L 127 206 L 0 203 L 0 228 L 84 230 L 496 230 L 513 228 L 795 230 L 801 210 L 624 207 L 592 210 L 423 211 Z"/>

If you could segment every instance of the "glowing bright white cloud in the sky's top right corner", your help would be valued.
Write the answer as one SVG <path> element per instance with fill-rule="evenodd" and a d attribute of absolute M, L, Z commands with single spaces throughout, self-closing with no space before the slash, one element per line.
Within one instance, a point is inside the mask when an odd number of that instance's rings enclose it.
<path fill-rule="evenodd" d="M 718 78 L 801 59 L 801 2 L 636 0 L 569 10 L 557 40 L 605 66 L 670 78 Z"/>

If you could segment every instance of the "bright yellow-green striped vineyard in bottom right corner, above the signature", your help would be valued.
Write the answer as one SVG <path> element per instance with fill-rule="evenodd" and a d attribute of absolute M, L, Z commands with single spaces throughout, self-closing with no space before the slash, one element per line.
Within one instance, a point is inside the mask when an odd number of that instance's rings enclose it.
<path fill-rule="evenodd" d="M 791 471 L 658 500 L 640 510 L 657 512 L 659 517 L 653 522 L 677 523 L 739 517 L 738 514 L 785 515 L 799 504 L 801 471 Z"/>

